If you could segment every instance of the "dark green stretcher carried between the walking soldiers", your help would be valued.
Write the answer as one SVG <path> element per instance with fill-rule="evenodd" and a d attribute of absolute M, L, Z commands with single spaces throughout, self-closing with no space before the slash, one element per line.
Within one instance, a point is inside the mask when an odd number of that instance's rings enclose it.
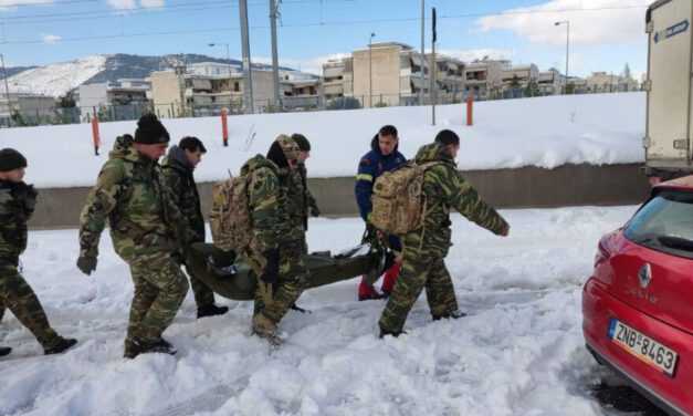
<path fill-rule="evenodd" d="M 370 245 L 360 245 L 342 253 L 316 252 L 304 256 L 309 272 L 306 289 L 349 280 L 358 275 L 379 277 L 385 271 L 387 253 Z M 258 278 L 250 266 L 233 251 L 198 242 L 191 246 L 186 268 L 214 293 L 235 301 L 254 299 Z"/>

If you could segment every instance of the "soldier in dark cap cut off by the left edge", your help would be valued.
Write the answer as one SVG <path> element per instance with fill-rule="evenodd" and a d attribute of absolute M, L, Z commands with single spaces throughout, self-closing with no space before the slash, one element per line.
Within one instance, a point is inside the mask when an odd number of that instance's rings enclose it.
<path fill-rule="evenodd" d="M 27 221 L 34 211 L 38 193 L 22 181 L 27 159 L 19 152 L 0 150 L 0 320 L 9 308 L 33 333 L 45 354 L 61 353 L 77 343 L 51 327 L 35 293 L 19 273 L 19 257 L 27 249 Z M 0 346 L 0 356 L 12 350 Z"/>

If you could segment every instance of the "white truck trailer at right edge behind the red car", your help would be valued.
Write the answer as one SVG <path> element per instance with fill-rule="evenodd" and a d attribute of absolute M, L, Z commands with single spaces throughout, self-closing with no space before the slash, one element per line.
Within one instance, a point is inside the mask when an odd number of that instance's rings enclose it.
<path fill-rule="evenodd" d="M 693 0 L 658 0 L 645 17 L 645 174 L 658 181 L 693 173 Z"/>

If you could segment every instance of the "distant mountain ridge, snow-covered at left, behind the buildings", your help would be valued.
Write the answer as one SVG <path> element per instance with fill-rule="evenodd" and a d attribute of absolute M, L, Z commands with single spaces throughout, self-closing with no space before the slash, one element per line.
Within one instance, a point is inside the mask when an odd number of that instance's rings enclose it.
<path fill-rule="evenodd" d="M 224 60 L 199 54 L 141 56 L 117 53 L 90 55 L 70 62 L 44 66 L 8 67 L 10 91 L 61 96 L 82 84 L 115 82 L 119 79 L 144 79 L 154 71 L 170 69 L 175 63 L 217 62 L 241 69 L 239 60 Z M 253 69 L 271 70 L 271 65 L 253 64 Z M 294 71 L 281 66 L 282 71 Z"/>

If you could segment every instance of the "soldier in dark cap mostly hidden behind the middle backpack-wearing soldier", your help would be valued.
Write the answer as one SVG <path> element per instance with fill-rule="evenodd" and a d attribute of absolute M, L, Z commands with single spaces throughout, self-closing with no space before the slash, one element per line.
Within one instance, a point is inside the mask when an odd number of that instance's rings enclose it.
<path fill-rule="evenodd" d="M 308 245 L 305 240 L 305 232 L 308 230 L 308 215 L 317 217 L 321 210 L 307 186 L 307 170 L 305 162 L 311 157 L 311 142 L 302 134 L 293 134 L 291 138 L 296 142 L 298 149 L 298 166 L 291 170 L 291 181 L 288 186 L 288 215 L 292 221 L 292 229 L 296 231 L 303 228 L 303 252 L 308 253 Z"/>

